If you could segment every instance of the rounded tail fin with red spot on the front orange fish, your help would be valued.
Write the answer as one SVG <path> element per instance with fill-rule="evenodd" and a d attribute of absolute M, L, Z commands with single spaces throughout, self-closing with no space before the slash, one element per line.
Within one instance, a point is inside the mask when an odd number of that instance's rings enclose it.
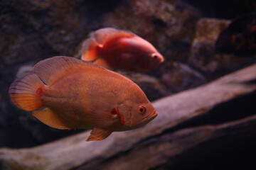
<path fill-rule="evenodd" d="M 36 74 L 26 73 L 18 77 L 9 89 L 11 101 L 26 111 L 43 107 L 41 96 L 45 85 Z"/>

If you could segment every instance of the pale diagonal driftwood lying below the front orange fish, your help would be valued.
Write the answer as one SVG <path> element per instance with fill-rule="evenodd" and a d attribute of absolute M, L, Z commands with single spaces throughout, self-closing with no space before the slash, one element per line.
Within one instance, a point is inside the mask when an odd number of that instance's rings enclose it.
<path fill-rule="evenodd" d="M 82 132 L 38 147 L 2 148 L 1 166 L 3 169 L 133 170 L 171 166 L 177 156 L 205 142 L 242 134 L 253 136 L 256 115 L 245 113 L 214 123 L 208 119 L 225 117 L 225 113 L 219 115 L 220 106 L 234 98 L 255 95 L 255 89 L 256 64 L 210 84 L 154 101 L 159 115 L 143 128 L 114 132 L 102 141 L 85 142 L 90 132 Z"/>

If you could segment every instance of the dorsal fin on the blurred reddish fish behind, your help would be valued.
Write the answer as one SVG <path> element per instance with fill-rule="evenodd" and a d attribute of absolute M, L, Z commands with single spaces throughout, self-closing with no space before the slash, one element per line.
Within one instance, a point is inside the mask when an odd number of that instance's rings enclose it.
<path fill-rule="evenodd" d="M 137 35 L 127 30 L 118 30 L 116 28 L 101 28 L 95 32 L 90 33 L 90 37 L 95 38 L 95 40 L 101 45 L 103 45 L 106 40 L 116 36 L 129 38 Z"/>

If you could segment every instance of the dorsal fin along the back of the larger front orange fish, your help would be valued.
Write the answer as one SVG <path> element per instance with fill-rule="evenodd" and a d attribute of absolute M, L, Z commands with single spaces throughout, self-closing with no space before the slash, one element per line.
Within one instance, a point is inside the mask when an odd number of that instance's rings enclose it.
<path fill-rule="evenodd" d="M 38 77 L 47 85 L 67 74 L 67 72 L 74 69 L 81 69 L 82 67 L 98 67 L 104 69 L 92 62 L 78 60 L 74 57 L 57 56 L 50 57 L 46 60 L 38 62 L 33 67 L 33 73 L 38 74 Z"/>

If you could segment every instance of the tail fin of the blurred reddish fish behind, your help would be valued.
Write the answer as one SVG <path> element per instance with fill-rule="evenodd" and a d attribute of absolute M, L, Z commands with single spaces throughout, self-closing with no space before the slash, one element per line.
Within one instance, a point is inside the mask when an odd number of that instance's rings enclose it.
<path fill-rule="evenodd" d="M 98 50 L 102 45 L 98 44 L 95 38 L 89 38 L 82 43 L 82 60 L 94 62 L 98 58 Z"/>

